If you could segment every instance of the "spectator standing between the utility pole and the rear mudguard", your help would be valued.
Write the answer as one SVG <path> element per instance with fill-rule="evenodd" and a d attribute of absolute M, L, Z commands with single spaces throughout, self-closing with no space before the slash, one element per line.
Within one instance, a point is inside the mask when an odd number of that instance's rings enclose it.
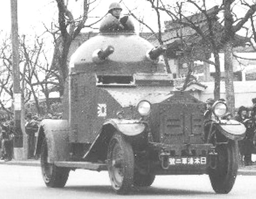
<path fill-rule="evenodd" d="M 35 133 L 38 131 L 38 123 L 32 119 L 32 114 L 29 112 L 26 115 L 25 131 L 28 135 L 28 158 L 34 157 L 35 149 Z"/>

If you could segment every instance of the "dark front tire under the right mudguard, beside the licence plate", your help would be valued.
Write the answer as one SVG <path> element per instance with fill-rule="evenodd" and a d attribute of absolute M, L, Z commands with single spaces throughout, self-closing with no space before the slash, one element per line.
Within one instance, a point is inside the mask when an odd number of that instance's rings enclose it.
<path fill-rule="evenodd" d="M 228 144 L 216 147 L 218 153 L 216 169 L 209 170 L 211 186 L 216 193 L 226 194 L 235 183 L 238 170 L 238 145 L 229 140 Z"/>

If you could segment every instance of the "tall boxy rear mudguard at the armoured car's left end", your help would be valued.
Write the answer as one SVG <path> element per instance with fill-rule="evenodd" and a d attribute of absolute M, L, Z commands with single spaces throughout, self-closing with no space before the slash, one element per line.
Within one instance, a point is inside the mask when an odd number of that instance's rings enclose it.
<path fill-rule="evenodd" d="M 43 139 L 46 138 L 48 146 L 49 163 L 55 161 L 68 161 L 69 126 L 67 120 L 46 119 L 40 123 L 38 141 L 35 154 L 41 153 Z"/>

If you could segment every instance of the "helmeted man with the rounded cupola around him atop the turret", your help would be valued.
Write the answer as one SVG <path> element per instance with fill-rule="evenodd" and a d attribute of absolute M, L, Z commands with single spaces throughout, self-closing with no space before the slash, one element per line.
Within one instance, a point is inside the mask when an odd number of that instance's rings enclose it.
<path fill-rule="evenodd" d="M 119 3 L 109 5 L 108 12 L 100 24 L 100 32 L 134 31 L 134 24 L 128 16 L 121 18 L 122 8 Z"/>

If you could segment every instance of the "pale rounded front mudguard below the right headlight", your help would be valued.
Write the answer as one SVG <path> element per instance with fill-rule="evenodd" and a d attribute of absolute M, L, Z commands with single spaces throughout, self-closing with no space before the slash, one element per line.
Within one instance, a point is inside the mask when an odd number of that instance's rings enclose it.
<path fill-rule="evenodd" d="M 242 140 L 245 137 L 246 128 L 235 120 L 221 120 L 216 124 L 217 129 L 231 140 Z"/>

